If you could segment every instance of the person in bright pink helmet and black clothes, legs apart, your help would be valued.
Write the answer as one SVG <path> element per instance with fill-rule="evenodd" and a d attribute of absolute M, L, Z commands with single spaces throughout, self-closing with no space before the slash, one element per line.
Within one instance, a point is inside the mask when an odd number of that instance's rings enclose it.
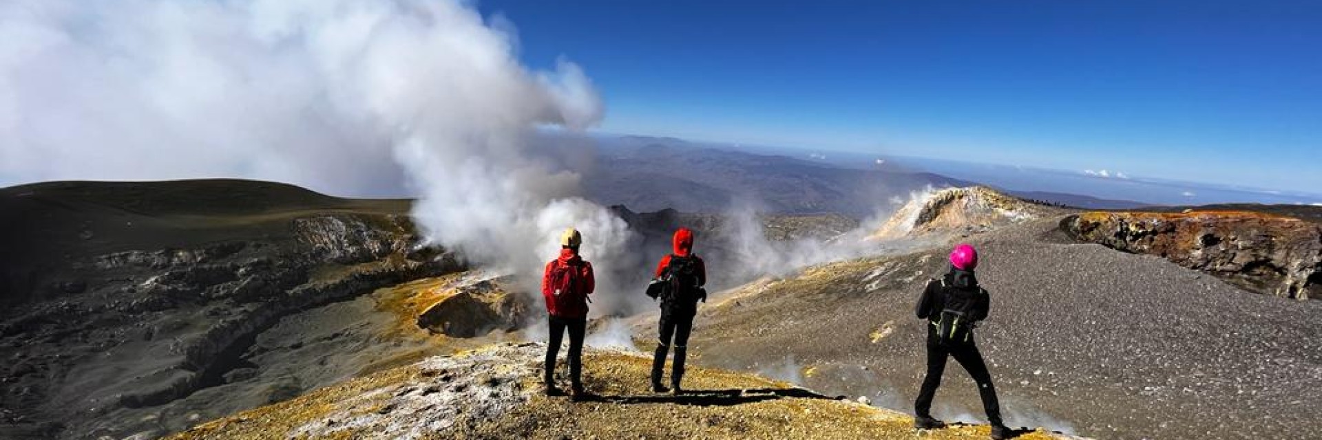
<path fill-rule="evenodd" d="M 973 270 L 978 266 L 978 254 L 969 244 L 960 244 L 951 252 L 951 272 L 940 280 L 927 283 L 923 297 L 917 301 L 915 313 L 927 318 L 927 378 L 914 403 L 914 427 L 920 429 L 943 428 L 945 423 L 932 418 L 932 398 L 941 385 L 945 371 L 945 358 L 956 362 L 978 385 L 982 408 L 992 424 L 993 439 L 1007 439 L 1011 432 L 1001 420 L 1001 404 L 997 402 L 995 387 L 986 362 L 973 341 L 973 328 L 988 317 L 988 291 L 978 287 Z"/>

